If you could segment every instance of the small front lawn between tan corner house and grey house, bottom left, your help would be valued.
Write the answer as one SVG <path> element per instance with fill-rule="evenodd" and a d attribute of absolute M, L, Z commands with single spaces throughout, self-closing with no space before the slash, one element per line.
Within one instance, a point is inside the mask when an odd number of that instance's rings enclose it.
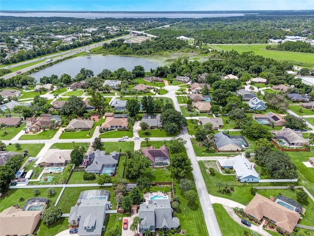
<path fill-rule="evenodd" d="M 55 236 L 56 234 L 70 228 L 70 223 L 68 223 L 68 217 L 62 217 L 57 222 L 47 226 L 41 220 L 39 221 L 35 232 L 38 236 Z"/>

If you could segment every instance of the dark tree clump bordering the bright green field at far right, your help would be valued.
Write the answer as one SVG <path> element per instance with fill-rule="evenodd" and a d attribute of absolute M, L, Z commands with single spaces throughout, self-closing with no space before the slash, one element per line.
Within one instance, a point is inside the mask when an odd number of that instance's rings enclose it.
<path fill-rule="evenodd" d="M 300 53 L 314 53 L 314 46 L 306 42 L 285 42 L 278 45 L 267 45 L 267 50 L 276 51 L 289 51 L 289 52 L 300 52 Z"/>

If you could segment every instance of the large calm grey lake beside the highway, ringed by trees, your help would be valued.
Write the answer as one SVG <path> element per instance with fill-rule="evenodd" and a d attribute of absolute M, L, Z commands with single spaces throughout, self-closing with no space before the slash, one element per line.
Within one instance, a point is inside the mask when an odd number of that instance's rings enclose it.
<path fill-rule="evenodd" d="M 96 76 L 103 69 L 109 69 L 112 72 L 124 67 L 127 71 L 131 71 L 134 66 L 141 65 L 145 71 L 149 71 L 151 68 L 156 69 L 157 63 L 151 62 L 147 59 L 132 58 L 132 57 L 121 57 L 121 56 L 86 56 L 67 59 L 45 69 L 42 69 L 36 73 L 30 74 L 39 83 L 39 79 L 44 76 L 51 76 L 52 74 L 57 75 L 59 78 L 62 74 L 69 74 L 71 77 L 75 77 L 81 68 L 90 69 L 94 71 Z"/>

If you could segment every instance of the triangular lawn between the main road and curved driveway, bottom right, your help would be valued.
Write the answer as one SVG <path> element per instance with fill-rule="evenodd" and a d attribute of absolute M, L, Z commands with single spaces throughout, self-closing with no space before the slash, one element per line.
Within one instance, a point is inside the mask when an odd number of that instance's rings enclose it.
<path fill-rule="evenodd" d="M 245 230 L 251 233 L 250 230 L 238 225 L 221 204 L 213 204 L 212 207 L 214 208 L 222 236 L 240 236 L 243 235 Z"/>

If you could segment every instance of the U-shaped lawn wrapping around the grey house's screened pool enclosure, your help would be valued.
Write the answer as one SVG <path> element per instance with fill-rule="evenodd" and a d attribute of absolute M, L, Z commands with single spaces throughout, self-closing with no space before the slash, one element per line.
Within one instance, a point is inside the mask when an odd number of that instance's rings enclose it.
<path fill-rule="evenodd" d="M 112 204 L 112 209 L 117 208 L 117 203 L 114 200 L 114 192 L 113 187 L 73 187 L 73 188 L 65 188 L 61 199 L 58 203 L 58 207 L 61 207 L 63 213 L 70 213 L 71 207 L 74 207 L 78 202 L 79 194 L 85 190 L 92 189 L 102 189 L 110 191 L 110 199 Z"/>

